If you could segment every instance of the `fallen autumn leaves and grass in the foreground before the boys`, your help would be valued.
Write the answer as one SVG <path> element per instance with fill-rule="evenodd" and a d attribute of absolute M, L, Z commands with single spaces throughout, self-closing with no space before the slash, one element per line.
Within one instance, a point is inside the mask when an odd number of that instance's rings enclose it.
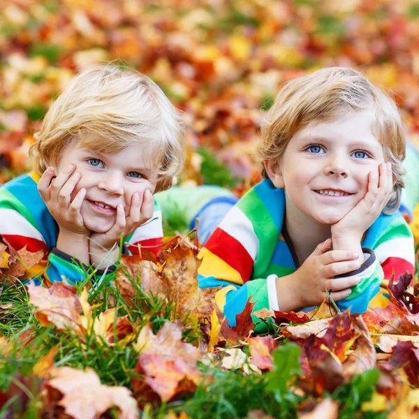
<path fill-rule="evenodd" d="M 24 258 L 3 260 L 3 417 L 419 416 L 410 274 L 390 280 L 388 307 L 362 316 L 326 302 L 251 315 L 249 300 L 230 328 L 218 290 L 198 288 L 197 251 L 187 237 L 168 237 L 157 257 L 122 256 L 111 277 L 75 287 L 24 284 Z"/>

